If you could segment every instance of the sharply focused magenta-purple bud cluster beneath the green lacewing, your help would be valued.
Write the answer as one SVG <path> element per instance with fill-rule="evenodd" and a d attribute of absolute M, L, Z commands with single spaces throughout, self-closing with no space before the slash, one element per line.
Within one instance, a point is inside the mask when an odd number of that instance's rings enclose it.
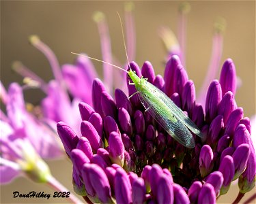
<path fill-rule="evenodd" d="M 195 86 L 172 56 L 165 77 L 154 74 L 150 62 L 132 70 L 163 90 L 199 126 L 203 139 L 185 148 L 155 121 L 139 101 L 115 90 L 115 100 L 96 79 L 92 86 L 93 107 L 80 103 L 81 135 L 63 122 L 59 137 L 72 160 L 74 189 L 86 201 L 109 203 L 215 203 L 233 180 L 240 192 L 255 185 L 255 150 L 251 125 L 237 107 L 236 69 L 227 59 L 220 81 L 210 83 L 205 113 L 195 100 Z M 129 79 L 127 78 L 127 84 Z M 129 95 L 136 92 L 128 85 Z M 89 199 L 89 200 L 88 200 Z"/>

